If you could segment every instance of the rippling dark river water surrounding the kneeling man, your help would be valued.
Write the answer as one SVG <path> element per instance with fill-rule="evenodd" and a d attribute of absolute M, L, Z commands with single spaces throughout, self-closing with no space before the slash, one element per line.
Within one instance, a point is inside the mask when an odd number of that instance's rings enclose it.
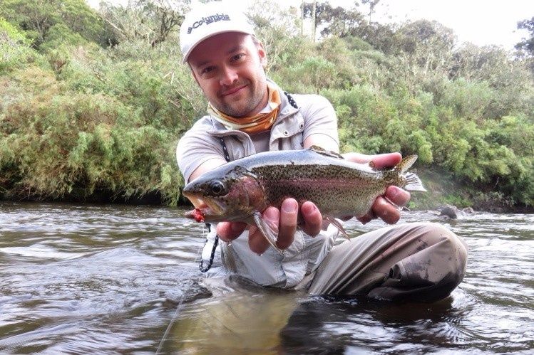
<path fill-rule="evenodd" d="M 534 215 L 404 213 L 400 223 L 445 223 L 470 254 L 451 297 L 394 304 L 205 278 L 197 265 L 205 228 L 182 212 L 0 202 L 0 352 L 534 351 Z M 351 221 L 346 230 L 355 237 L 381 226 Z"/>

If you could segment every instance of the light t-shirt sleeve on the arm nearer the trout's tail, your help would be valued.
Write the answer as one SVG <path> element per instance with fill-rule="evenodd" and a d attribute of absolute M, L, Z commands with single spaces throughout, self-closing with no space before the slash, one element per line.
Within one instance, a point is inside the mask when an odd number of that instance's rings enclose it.
<path fill-rule="evenodd" d="M 320 95 L 306 95 L 304 100 L 307 105 L 302 105 L 301 108 L 304 117 L 303 139 L 312 134 L 324 134 L 339 146 L 336 111 L 329 100 Z"/>

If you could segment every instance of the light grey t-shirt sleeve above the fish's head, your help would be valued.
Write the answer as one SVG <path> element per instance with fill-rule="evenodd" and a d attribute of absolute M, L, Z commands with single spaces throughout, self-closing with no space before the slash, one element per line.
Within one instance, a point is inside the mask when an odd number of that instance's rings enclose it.
<path fill-rule="evenodd" d="M 187 182 L 193 171 L 210 159 L 225 159 L 222 146 L 206 132 L 191 129 L 185 132 L 176 147 L 178 168 Z"/>

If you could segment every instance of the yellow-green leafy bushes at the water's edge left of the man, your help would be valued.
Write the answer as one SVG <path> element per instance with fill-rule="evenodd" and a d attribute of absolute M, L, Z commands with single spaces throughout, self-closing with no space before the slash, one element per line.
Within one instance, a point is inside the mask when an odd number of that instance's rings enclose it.
<path fill-rule="evenodd" d="M 0 120 L 0 185 L 6 196 L 85 199 L 161 191 L 175 203 L 180 178 L 173 132 L 143 122 L 142 112 L 100 93 L 67 91 L 53 73 L 30 68 L 15 73 L 0 92 L 24 90 Z M 28 88 L 34 88 L 29 92 Z"/>

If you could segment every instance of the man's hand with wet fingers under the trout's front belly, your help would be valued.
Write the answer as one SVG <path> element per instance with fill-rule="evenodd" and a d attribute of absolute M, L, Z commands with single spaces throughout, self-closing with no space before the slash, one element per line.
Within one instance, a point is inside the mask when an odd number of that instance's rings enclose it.
<path fill-rule="evenodd" d="M 293 243 L 294 233 L 297 231 L 297 217 L 299 204 L 294 198 L 287 198 L 282 202 L 281 208 L 268 207 L 263 211 L 262 218 L 278 228 L 277 247 L 289 248 Z M 304 202 L 300 206 L 300 213 L 304 224 L 300 226 L 307 235 L 317 235 L 321 231 L 322 215 L 312 202 Z M 247 223 L 221 222 L 217 225 L 217 235 L 229 242 L 239 237 L 247 228 Z M 262 254 L 269 248 L 269 242 L 256 226 L 249 228 L 249 247 L 254 253 Z"/>

